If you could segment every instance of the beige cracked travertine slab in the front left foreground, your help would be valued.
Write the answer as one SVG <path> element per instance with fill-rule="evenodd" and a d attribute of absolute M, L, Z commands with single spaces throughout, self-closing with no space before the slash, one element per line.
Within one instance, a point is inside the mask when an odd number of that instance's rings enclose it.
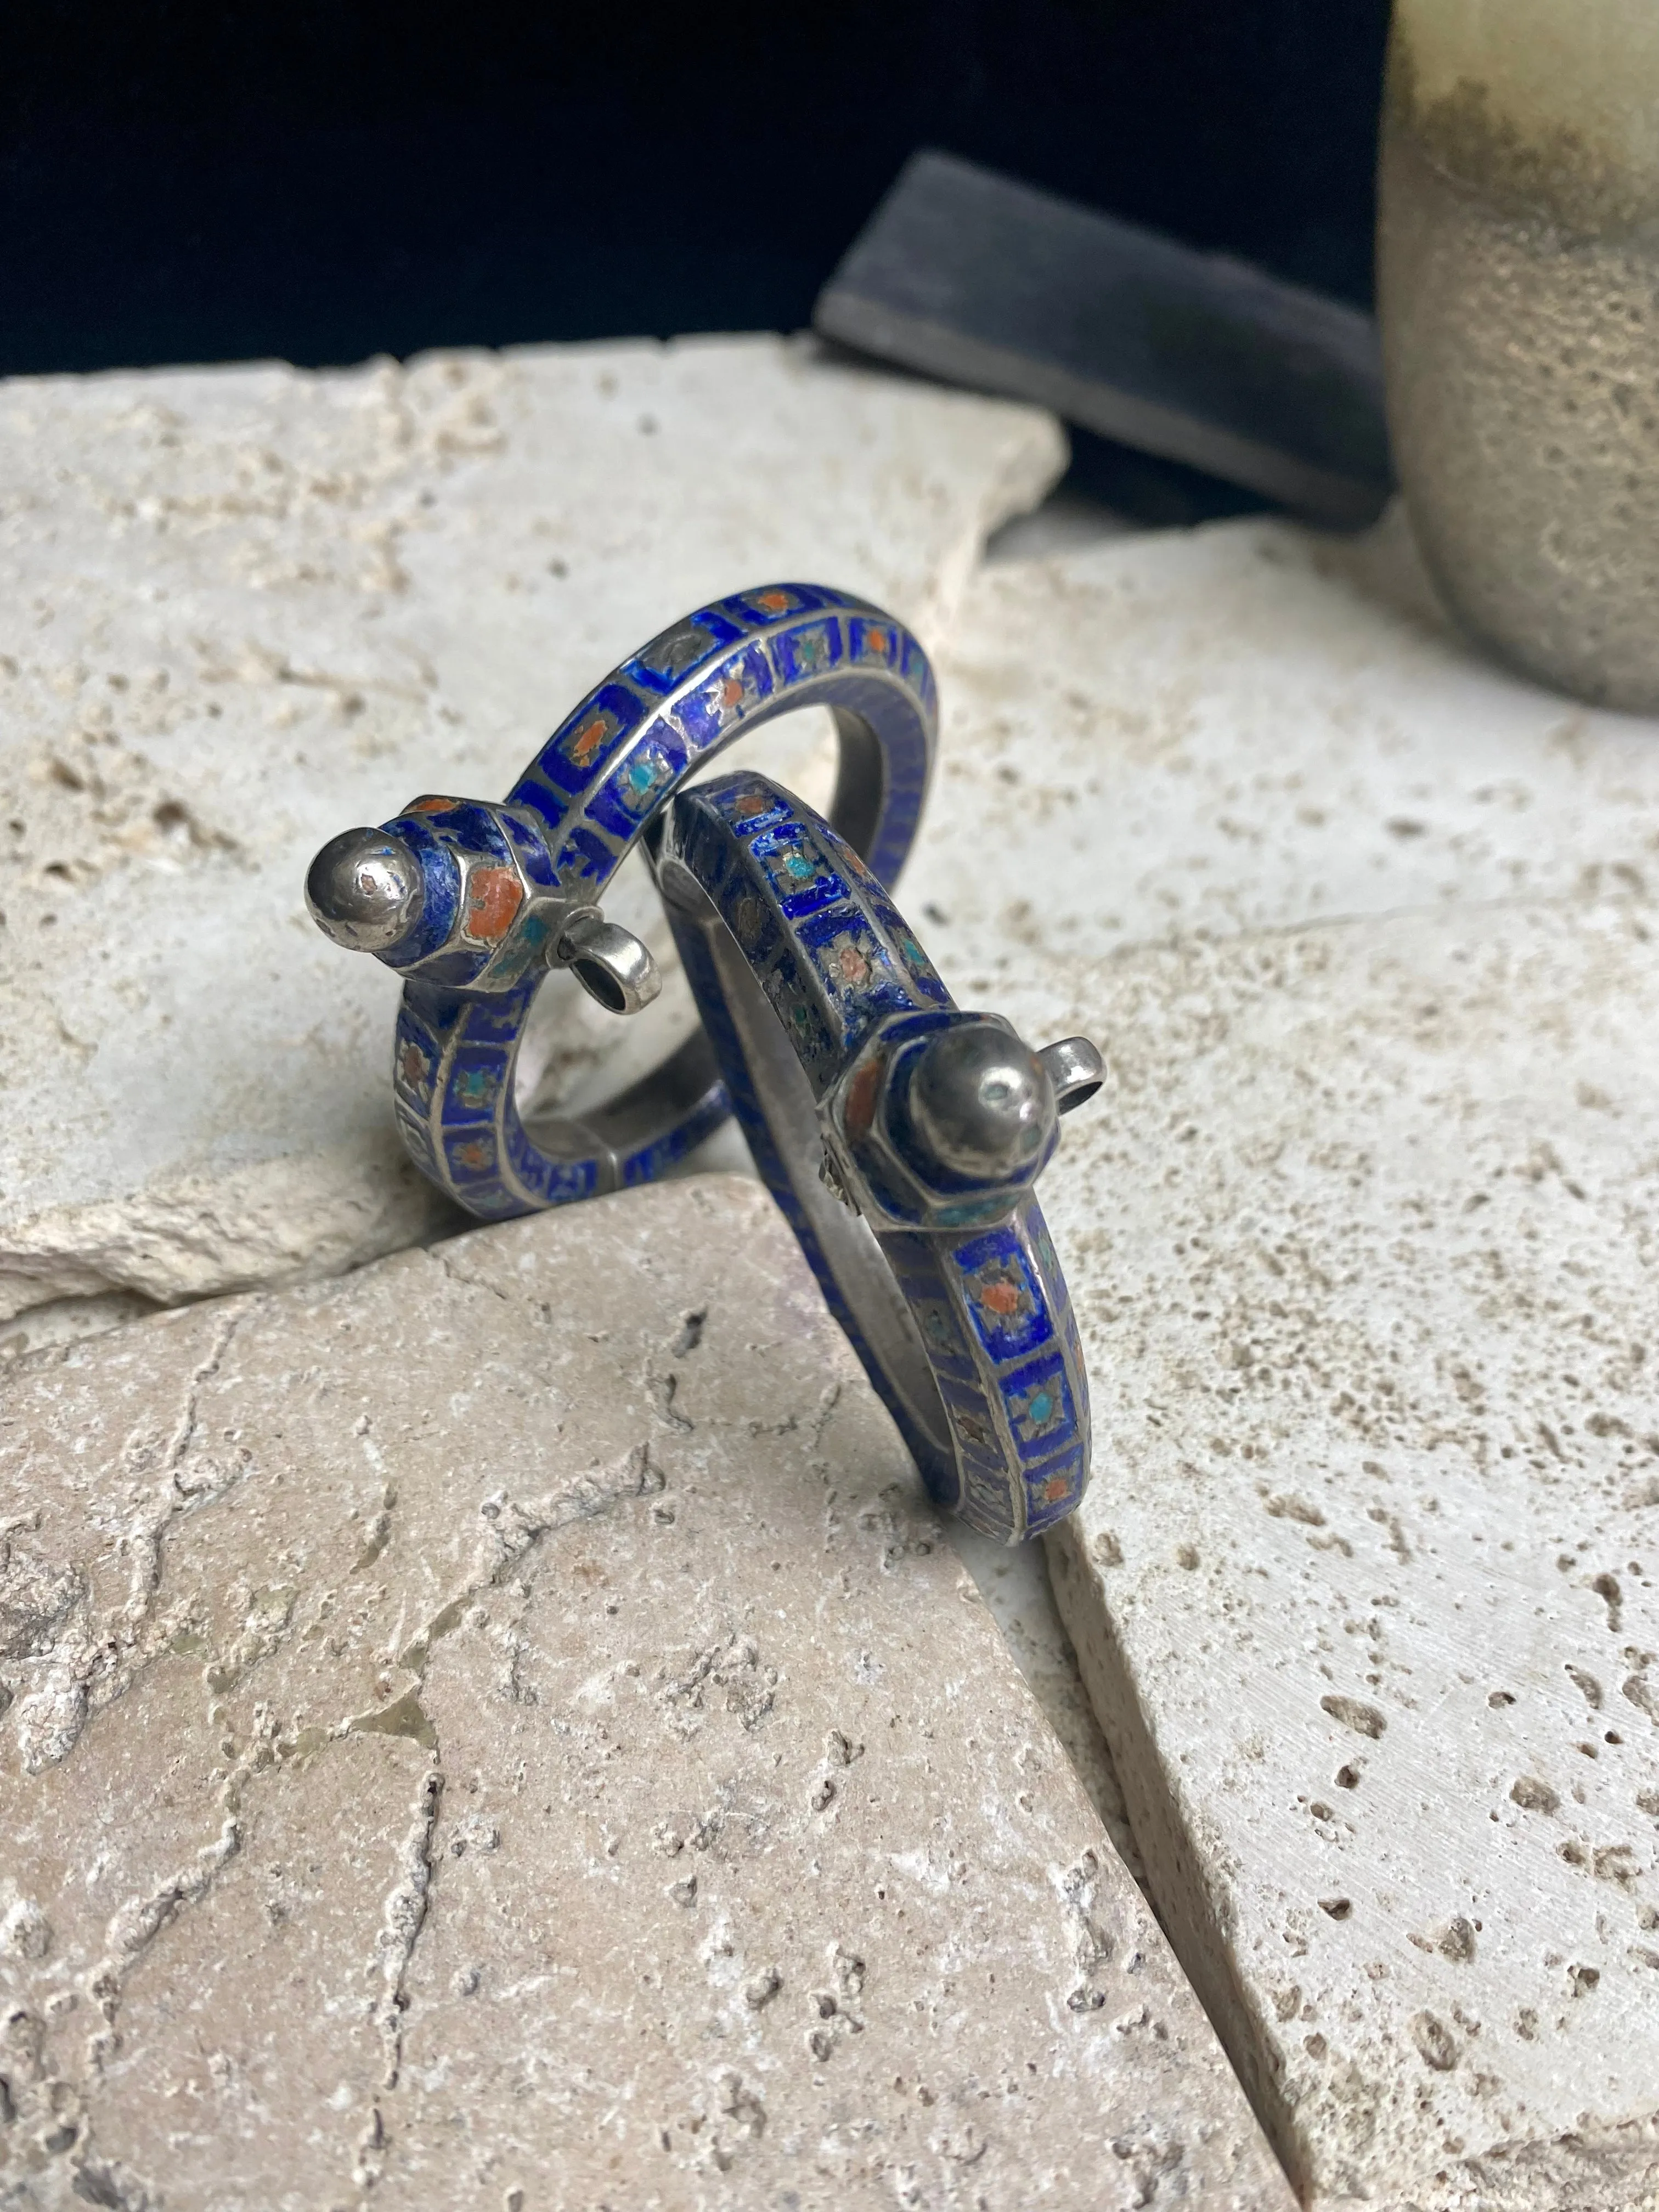
<path fill-rule="evenodd" d="M 1279 2208 L 770 1201 L 22 1356 L 0 2203 Z"/>

